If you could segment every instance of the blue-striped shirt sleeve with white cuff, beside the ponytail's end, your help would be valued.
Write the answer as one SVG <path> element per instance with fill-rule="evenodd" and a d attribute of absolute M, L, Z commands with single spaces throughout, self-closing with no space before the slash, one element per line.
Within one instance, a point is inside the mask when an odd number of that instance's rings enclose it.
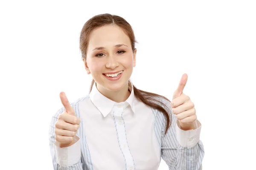
<path fill-rule="evenodd" d="M 195 130 L 181 130 L 177 118 L 169 107 L 171 126 L 165 134 L 163 119 L 161 157 L 169 170 L 201 170 L 204 158 L 204 145 L 199 139 L 201 123 L 195 122 Z"/>

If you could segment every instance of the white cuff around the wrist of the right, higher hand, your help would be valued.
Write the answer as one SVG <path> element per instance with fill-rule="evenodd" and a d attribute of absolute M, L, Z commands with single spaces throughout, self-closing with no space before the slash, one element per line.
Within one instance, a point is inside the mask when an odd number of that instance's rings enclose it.
<path fill-rule="evenodd" d="M 177 141 L 179 142 L 180 146 L 187 147 L 188 149 L 194 147 L 200 139 L 200 132 L 201 132 L 201 123 L 196 120 L 194 122 L 195 129 L 192 130 L 182 130 L 180 129 L 180 123 L 177 120 L 176 124 L 176 135 Z"/>

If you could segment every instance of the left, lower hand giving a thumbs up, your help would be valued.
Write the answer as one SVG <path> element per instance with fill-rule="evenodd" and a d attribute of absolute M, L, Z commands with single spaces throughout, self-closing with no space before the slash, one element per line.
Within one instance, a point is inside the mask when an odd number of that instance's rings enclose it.
<path fill-rule="evenodd" d="M 55 123 L 55 140 L 60 143 L 60 147 L 68 147 L 75 143 L 74 137 L 81 120 L 76 117 L 64 92 L 60 93 L 60 98 L 65 111 L 58 116 Z"/>

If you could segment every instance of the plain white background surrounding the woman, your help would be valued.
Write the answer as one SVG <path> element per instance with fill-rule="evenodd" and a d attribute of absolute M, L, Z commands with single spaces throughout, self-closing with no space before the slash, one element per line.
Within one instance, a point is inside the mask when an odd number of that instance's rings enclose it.
<path fill-rule="evenodd" d="M 134 29 L 137 88 L 184 93 L 202 123 L 204 170 L 255 167 L 256 5 L 248 0 L 1 1 L 0 169 L 53 169 L 48 130 L 62 107 L 88 94 L 79 51 L 84 23 L 124 17 Z M 159 170 L 168 170 L 162 160 Z"/>

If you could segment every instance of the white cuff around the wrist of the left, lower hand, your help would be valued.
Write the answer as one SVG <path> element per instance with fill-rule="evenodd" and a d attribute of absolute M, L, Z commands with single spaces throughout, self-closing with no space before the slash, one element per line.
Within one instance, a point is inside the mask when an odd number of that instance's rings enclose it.
<path fill-rule="evenodd" d="M 81 157 L 80 139 L 76 136 L 77 142 L 69 147 L 59 147 L 59 142 L 54 142 L 57 162 L 61 167 L 69 167 L 76 164 Z"/>

